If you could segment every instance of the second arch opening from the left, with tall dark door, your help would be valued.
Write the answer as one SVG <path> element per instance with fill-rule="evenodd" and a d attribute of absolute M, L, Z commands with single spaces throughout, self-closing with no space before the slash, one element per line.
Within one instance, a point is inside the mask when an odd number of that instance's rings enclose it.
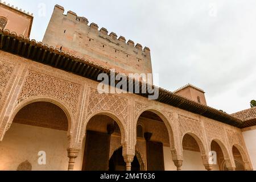
<path fill-rule="evenodd" d="M 94 115 L 86 126 L 82 171 L 108 171 L 110 142 L 120 139 L 121 130 L 115 119 L 108 115 Z"/>

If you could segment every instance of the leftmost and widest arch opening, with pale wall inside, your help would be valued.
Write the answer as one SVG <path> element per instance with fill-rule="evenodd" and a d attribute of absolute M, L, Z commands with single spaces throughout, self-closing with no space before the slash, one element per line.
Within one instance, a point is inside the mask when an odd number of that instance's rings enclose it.
<path fill-rule="evenodd" d="M 64 110 L 51 102 L 22 107 L 0 143 L 0 170 L 67 170 L 68 123 Z"/>

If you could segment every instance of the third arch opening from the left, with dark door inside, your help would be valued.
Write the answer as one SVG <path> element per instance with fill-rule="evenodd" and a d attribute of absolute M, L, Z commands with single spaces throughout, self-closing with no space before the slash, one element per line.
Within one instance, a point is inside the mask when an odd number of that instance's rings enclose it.
<path fill-rule="evenodd" d="M 167 126 L 162 118 L 166 121 L 166 118 L 155 110 L 144 111 L 138 118 L 137 146 L 144 152 L 145 169 L 148 171 L 164 171 L 165 164 L 168 166 L 167 170 L 174 165 L 171 158 L 167 158 L 168 153 L 164 153 L 171 151 L 171 146 Z"/>

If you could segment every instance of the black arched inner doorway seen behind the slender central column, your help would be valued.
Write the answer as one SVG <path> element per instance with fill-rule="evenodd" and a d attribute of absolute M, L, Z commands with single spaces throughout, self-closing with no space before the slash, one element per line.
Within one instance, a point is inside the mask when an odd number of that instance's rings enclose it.
<path fill-rule="evenodd" d="M 134 156 L 133 162 L 131 163 L 131 171 L 139 171 L 139 161 L 137 156 Z M 109 160 L 109 171 L 126 171 L 126 163 L 122 156 L 122 147 L 114 151 L 112 157 Z"/>

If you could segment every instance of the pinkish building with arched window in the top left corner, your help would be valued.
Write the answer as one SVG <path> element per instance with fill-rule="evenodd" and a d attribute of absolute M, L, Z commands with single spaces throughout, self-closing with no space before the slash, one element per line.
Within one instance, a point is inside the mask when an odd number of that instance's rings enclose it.
<path fill-rule="evenodd" d="M 0 1 L 0 28 L 16 32 L 17 35 L 29 37 L 32 22 L 32 14 Z"/>

